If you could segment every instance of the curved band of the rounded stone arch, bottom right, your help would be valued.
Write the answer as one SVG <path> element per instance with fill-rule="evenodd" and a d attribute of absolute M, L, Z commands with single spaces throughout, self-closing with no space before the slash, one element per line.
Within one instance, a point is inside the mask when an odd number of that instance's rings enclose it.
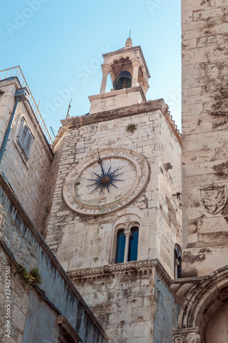
<path fill-rule="evenodd" d="M 190 282 L 190 281 L 189 281 Z M 181 307 L 178 329 L 198 330 L 201 337 L 212 315 L 228 302 L 228 265 L 205 276 Z"/>

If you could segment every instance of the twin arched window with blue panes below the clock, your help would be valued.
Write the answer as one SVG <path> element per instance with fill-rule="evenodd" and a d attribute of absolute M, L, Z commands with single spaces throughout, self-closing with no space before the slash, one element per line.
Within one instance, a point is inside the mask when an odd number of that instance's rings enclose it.
<path fill-rule="evenodd" d="M 115 263 L 136 261 L 138 255 L 138 227 L 119 230 L 116 235 Z"/>

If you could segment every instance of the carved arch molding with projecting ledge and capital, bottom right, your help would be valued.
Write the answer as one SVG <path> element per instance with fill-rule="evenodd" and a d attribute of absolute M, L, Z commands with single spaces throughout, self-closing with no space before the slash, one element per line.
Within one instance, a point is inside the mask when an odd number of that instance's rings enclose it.
<path fill-rule="evenodd" d="M 186 343 L 201 343 L 208 320 L 224 305 L 228 298 L 228 265 L 208 276 L 192 277 L 170 282 L 175 299 L 181 305 L 178 327 L 174 330 L 183 335 L 188 333 Z M 178 331 L 178 332 L 177 332 Z M 194 334 L 193 334 L 194 333 Z"/>

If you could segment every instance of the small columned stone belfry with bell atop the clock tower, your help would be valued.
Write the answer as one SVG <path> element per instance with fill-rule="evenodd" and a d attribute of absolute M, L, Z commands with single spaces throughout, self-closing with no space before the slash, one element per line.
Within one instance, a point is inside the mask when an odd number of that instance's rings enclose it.
<path fill-rule="evenodd" d="M 104 54 L 103 58 L 101 91 L 89 97 L 90 114 L 145 102 L 150 74 L 141 47 L 132 47 L 131 38 L 127 38 L 125 47 Z M 105 93 L 109 74 L 114 88 Z"/>

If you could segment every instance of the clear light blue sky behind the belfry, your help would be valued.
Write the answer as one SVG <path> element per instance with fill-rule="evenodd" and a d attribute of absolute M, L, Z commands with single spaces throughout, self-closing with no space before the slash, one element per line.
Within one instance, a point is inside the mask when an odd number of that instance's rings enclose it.
<path fill-rule="evenodd" d="M 124 47 L 131 29 L 151 73 L 147 99 L 163 97 L 181 129 L 180 11 L 177 0 L 4 1 L 0 70 L 20 65 L 57 133 L 71 99 L 71 116 L 89 112 L 88 96 L 101 86 L 102 54 Z"/>

